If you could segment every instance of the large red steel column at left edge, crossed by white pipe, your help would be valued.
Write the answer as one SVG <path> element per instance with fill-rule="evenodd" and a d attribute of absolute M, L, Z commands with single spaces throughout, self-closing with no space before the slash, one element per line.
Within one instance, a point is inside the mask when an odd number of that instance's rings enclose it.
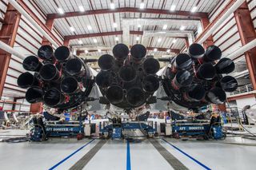
<path fill-rule="evenodd" d="M 10 3 L 7 6 L 2 30 L 0 30 L 0 40 L 7 45 L 14 47 L 15 38 L 18 32 L 18 26 L 21 19 L 21 14 L 14 9 Z M 0 97 L 4 89 L 6 82 L 6 75 L 10 64 L 11 54 L 7 53 L 3 49 L 0 49 Z"/>

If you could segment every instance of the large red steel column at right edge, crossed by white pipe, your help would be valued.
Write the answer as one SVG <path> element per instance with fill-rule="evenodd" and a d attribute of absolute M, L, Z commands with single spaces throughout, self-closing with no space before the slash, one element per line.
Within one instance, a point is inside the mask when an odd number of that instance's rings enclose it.
<path fill-rule="evenodd" d="M 244 2 L 242 6 L 234 12 L 234 18 L 238 26 L 238 33 L 242 45 L 246 45 L 256 38 L 256 32 L 254 30 L 254 23 L 250 15 L 247 2 Z M 256 47 L 250 49 L 245 53 L 246 63 L 250 74 L 250 81 L 256 89 Z"/>

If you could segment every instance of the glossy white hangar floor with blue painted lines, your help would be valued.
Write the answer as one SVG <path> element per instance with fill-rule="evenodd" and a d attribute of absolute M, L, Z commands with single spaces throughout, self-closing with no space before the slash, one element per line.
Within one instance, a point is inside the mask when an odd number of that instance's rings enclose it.
<path fill-rule="evenodd" d="M 16 130 L 17 131 L 17 130 Z M 0 130 L 0 136 L 10 131 Z M 15 133 L 17 134 L 17 133 Z M 42 143 L 0 143 L 0 169 L 69 169 L 99 140 L 49 140 Z M 228 137 L 226 140 L 174 140 L 158 142 L 189 169 L 255 169 L 254 140 Z M 231 143 L 231 144 L 230 144 Z M 233 144 L 236 143 L 236 144 Z M 173 169 L 149 140 L 141 143 L 107 140 L 83 169 L 165 170 Z M 130 150 L 130 156 L 127 154 Z M 130 159 L 129 159 L 130 158 Z"/>

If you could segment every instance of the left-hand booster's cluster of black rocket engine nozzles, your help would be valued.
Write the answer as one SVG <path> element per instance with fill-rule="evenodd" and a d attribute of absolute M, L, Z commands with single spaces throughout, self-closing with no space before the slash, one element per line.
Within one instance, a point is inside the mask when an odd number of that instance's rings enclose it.
<path fill-rule="evenodd" d="M 69 109 L 90 100 L 94 85 L 90 68 L 66 46 L 54 51 L 50 45 L 42 45 L 38 57 L 26 57 L 22 65 L 28 72 L 18 77 L 17 84 L 27 89 L 26 101 Z"/>

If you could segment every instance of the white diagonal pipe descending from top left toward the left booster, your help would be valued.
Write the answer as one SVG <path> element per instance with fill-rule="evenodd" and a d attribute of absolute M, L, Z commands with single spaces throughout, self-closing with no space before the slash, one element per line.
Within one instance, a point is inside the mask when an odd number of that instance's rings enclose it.
<path fill-rule="evenodd" d="M 15 0 L 10 0 L 9 1 L 10 2 L 10 4 L 12 5 L 12 6 L 14 6 L 14 8 L 16 9 L 16 10 L 18 10 L 18 12 L 20 13 L 20 14 L 22 14 L 22 16 L 24 16 L 47 40 L 49 40 L 49 42 L 51 43 L 51 44 L 53 44 L 55 47 L 58 47 L 59 45 L 58 45 L 58 43 L 57 42 L 54 42 L 54 40 L 50 37 L 50 35 L 49 34 L 47 34 L 46 33 L 46 31 L 45 30 L 43 30 L 42 29 L 42 27 L 41 26 L 39 26 L 38 25 L 38 23 L 37 22 L 35 22 L 34 21 L 34 19 L 30 16 L 30 14 L 27 14 L 26 13 L 26 10 L 24 10 L 23 8 L 22 8 L 22 6 L 20 6 L 19 4 L 18 4 L 18 2 L 16 2 Z"/>

